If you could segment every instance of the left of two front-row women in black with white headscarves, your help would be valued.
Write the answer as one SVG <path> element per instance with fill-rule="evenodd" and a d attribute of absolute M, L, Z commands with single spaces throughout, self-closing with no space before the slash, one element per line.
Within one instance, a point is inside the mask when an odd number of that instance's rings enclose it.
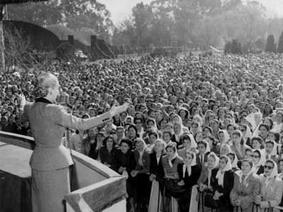
<path fill-rule="evenodd" d="M 180 212 L 189 211 L 192 187 L 197 184 L 201 172 L 201 167 L 197 165 L 196 155 L 192 151 L 186 150 L 184 162 L 178 164 L 178 175 L 180 177 L 178 185 L 185 187 L 183 195 L 178 200 Z"/>

